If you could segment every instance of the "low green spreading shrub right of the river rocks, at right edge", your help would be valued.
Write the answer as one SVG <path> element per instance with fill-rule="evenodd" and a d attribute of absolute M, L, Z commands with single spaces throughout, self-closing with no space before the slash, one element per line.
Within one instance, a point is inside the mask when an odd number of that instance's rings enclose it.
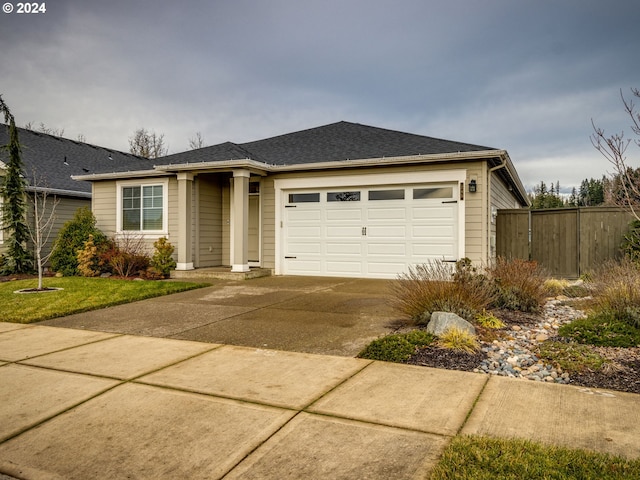
<path fill-rule="evenodd" d="M 612 312 L 593 313 L 558 329 L 558 334 L 578 343 L 601 347 L 640 345 L 640 329 L 615 317 Z"/>

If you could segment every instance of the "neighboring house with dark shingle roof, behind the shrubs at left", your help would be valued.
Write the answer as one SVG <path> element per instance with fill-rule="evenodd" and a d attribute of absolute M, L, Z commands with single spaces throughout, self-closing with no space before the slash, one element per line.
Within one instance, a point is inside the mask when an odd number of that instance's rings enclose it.
<path fill-rule="evenodd" d="M 46 192 L 48 207 L 58 200 L 55 209 L 55 224 L 44 253 L 50 251 L 62 225 L 73 218 L 80 207 L 91 206 L 91 182 L 78 182 L 72 175 L 84 175 L 104 172 L 109 169 L 140 170 L 152 168 L 153 162 L 128 153 L 117 152 L 87 143 L 18 129 L 22 149 L 24 175 L 27 180 L 27 194 Z M 0 124 L 0 147 L 9 143 L 9 128 Z M 0 149 L 0 182 L 4 176 L 4 167 L 9 161 L 6 149 Z M 0 197 L 0 203 L 2 198 Z M 32 212 L 28 212 L 29 222 L 33 222 Z M 1 224 L 0 224 L 1 226 Z M 3 239 L 6 232 L 0 229 L 0 254 L 4 251 Z"/>

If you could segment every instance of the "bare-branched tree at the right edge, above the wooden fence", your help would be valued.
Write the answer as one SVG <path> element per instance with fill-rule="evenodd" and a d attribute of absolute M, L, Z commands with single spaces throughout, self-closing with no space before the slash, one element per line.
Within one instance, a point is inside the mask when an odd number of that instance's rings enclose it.
<path fill-rule="evenodd" d="M 632 140 L 625 138 L 624 132 L 606 135 L 602 128 L 596 127 L 593 120 L 593 134 L 591 143 L 613 165 L 613 180 L 620 189 L 620 194 L 615 196 L 616 202 L 628 209 L 636 220 L 640 221 L 640 180 L 636 169 L 629 166 L 626 151 L 633 141 L 640 147 L 640 112 L 636 110 L 633 97 L 640 98 L 640 90 L 631 89 L 631 98 L 626 98 L 620 90 L 620 97 L 626 114 L 631 118 L 631 131 L 639 138 Z"/>

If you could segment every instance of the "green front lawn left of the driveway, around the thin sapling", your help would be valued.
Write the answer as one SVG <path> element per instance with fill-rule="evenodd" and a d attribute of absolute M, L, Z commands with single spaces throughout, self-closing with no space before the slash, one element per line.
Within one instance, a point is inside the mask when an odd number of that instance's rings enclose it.
<path fill-rule="evenodd" d="M 207 283 L 153 280 L 64 277 L 47 278 L 44 281 L 45 287 L 58 287 L 63 290 L 44 293 L 14 293 L 16 290 L 35 288 L 37 284 L 37 279 L 0 283 L 0 321 L 38 322 L 210 285 Z"/>

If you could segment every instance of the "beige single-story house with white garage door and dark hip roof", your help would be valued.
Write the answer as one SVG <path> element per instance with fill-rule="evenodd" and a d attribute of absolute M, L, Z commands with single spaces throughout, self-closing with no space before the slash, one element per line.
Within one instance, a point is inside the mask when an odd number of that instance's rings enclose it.
<path fill-rule="evenodd" d="M 166 236 L 178 270 L 395 278 L 485 262 L 497 209 L 528 205 L 505 150 L 349 122 L 73 178 L 92 182 L 103 232 Z"/>

